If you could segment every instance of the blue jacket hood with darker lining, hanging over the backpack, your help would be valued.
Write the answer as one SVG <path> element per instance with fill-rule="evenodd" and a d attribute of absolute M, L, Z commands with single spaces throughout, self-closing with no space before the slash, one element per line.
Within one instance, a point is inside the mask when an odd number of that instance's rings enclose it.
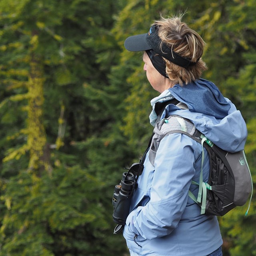
<path fill-rule="evenodd" d="M 188 109 L 170 104 L 162 118 L 167 114 L 182 116 L 191 120 L 196 129 L 223 150 L 237 152 L 244 149 L 246 123 L 240 111 L 224 98 L 215 84 L 200 79 L 184 86 L 175 85 L 169 90 Z"/>

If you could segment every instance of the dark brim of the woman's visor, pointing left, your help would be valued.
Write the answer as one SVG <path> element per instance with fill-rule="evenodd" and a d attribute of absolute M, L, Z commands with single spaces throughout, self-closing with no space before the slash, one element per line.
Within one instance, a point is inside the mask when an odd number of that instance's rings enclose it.
<path fill-rule="evenodd" d="M 147 43 L 146 36 L 148 34 L 140 34 L 136 36 L 129 36 L 124 41 L 124 47 L 126 50 L 131 52 L 146 51 L 152 49 L 152 47 Z"/>

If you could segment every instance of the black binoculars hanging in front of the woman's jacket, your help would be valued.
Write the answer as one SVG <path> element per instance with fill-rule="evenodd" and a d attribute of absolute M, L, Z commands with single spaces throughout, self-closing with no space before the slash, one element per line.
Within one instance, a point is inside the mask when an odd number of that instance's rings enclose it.
<path fill-rule="evenodd" d="M 114 188 L 112 205 L 114 206 L 113 220 L 116 224 L 125 225 L 130 212 L 130 200 L 135 184 L 134 174 L 124 172 L 120 184 Z"/>

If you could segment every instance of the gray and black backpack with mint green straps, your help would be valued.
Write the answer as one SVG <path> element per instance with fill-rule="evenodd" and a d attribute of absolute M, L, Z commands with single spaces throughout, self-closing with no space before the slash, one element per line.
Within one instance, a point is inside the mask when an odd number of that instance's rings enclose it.
<path fill-rule="evenodd" d="M 149 160 L 154 166 L 156 151 L 162 138 L 172 133 L 186 134 L 202 145 L 202 166 L 206 148 L 210 158 L 208 183 L 202 180 L 202 168 L 197 198 L 189 191 L 189 196 L 201 207 L 201 214 L 223 216 L 236 206 L 243 206 L 250 196 L 253 184 L 244 150 L 230 153 L 222 150 L 196 130 L 194 124 L 180 116 L 169 116 L 158 122 L 149 148 Z M 246 214 L 250 208 L 250 202 Z"/>

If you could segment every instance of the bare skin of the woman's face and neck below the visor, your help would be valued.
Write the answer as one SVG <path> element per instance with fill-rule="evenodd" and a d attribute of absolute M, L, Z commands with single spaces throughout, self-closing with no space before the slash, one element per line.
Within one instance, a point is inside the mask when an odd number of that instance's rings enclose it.
<path fill-rule="evenodd" d="M 150 82 L 154 90 L 162 93 L 172 87 L 170 79 L 165 78 L 156 70 L 146 52 L 143 54 L 143 61 L 145 63 L 143 69 L 146 71 L 148 82 Z"/>

